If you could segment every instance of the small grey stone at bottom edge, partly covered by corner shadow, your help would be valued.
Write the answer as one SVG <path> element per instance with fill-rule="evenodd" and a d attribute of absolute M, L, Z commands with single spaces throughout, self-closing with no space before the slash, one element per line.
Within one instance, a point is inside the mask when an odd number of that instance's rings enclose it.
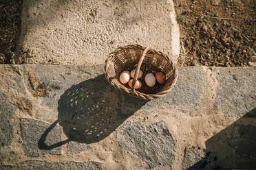
<path fill-rule="evenodd" d="M 212 170 L 218 169 L 215 154 L 204 149 L 189 146 L 185 148 L 182 169 L 188 170 Z"/>

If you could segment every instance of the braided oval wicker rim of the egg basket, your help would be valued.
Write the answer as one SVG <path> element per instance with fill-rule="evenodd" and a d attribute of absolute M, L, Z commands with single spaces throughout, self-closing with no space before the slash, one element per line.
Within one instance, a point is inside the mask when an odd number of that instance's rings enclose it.
<path fill-rule="evenodd" d="M 113 79 L 113 77 L 110 77 L 109 73 L 107 72 L 107 70 L 110 66 L 109 62 L 110 62 L 111 58 L 114 58 L 118 52 L 120 52 L 124 49 L 141 49 L 142 51 L 144 51 L 146 48 L 147 47 L 143 47 L 138 44 L 125 45 L 125 46 L 118 47 L 117 49 L 115 49 L 114 51 L 109 53 L 109 56 L 107 56 L 107 59 L 105 60 L 105 77 L 107 79 L 107 82 L 109 82 L 109 84 L 111 84 L 111 86 L 114 86 L 115 88 L 118 88 L 119 90 L 122 90 L 125 93 L 128 93 L 129 95 L 132 95 L 134 97 L 150 100 L 150 99 L 156 99 L 159 97 L 163 97 L 164 95 L 169 93 L 172 90 L 173 86 L 176 84 L 176 81 L 178 78 L 178 71 L 176 69 L 175 64 L 171 60 L 171 58 L 169 58 L 166 54 L 162 53 L 161 51 L 151 49 L 151 51 L 153 51 L 153 53 L 158 53 L 159 56 L 164 57 L 164 59 L 167 60 L 167 62 L 169 62 L 169 64 L 171 64 L 171 69 L 173 69 L 173 77 L 174 77 L 173 82 L 171 82 L 170 86 L 166 86 L 165 88 L 161 89 L 160 92 L 158 92 L 156 94 L 141 93 L 138 90 L 133 91 L 133 90 L 131 90 L 131 88 L 127 88 L 125 86 L 119 86 L 118 84 L 115 84 L 114 82 L 111 81 Z"/>

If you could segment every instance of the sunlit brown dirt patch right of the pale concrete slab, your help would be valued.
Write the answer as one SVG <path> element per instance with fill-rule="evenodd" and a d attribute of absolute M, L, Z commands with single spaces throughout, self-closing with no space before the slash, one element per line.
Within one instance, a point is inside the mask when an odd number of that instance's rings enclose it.
<path fill-rule="evenodd" d="M 174 2 L 185 51 L 178 66 L 252 65 L 256 49 L 255 0 Z"/>

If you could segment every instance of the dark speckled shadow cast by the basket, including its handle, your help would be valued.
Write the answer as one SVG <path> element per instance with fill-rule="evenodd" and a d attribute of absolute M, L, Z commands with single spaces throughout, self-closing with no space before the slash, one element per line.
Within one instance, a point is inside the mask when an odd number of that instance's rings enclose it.
<path fill-rule="evenodd" d="M 53 149 L 70 141 L 97 143 L 146 102 L 111 87 L 104 75 L 76 84 L 65 90 L 58 100 L 58 120 L 41 136 L 39 148 Z M 57 123 L 63 127 L 68 139 L 46 145 L 45 138 Z"/>

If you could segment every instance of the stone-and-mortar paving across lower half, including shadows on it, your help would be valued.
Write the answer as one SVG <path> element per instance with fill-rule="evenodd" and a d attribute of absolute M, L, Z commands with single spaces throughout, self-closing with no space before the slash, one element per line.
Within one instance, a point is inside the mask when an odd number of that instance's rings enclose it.
<path fill-rule="evenodd" d="M 103 65 L 0 66 L 0 169 L 252 169 L 255 67 L 178 68 L 167 96 L 112 88 Z"/>

